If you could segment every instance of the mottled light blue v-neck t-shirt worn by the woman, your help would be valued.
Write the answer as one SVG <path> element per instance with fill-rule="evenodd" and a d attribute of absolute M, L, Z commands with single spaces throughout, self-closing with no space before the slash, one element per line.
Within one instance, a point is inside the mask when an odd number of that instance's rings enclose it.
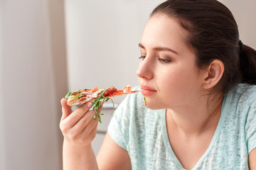
<path fill-rule="evenodd" d="M 171 149 L 165 114 L 146 108 L 141 93 L 128 95 L 115 111 L 108 132 L 129 153 L 132 169 L 183 169 Z M 193 170 L 249 169 L 255 147 L 256 86 L 239 84 L 225 94 L 213 139 Z"/>

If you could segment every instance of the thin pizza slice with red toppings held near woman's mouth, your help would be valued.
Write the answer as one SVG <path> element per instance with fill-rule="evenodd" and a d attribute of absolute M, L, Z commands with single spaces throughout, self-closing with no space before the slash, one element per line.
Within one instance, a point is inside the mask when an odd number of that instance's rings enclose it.
<path fill-rule="evenodd" d="M 137 91 L 132 91 L 131 86 L 125 86 L 123 90 L 117 90 L 114 86 L 107 89 L 80 89 L 78 91 L 69 92 L 65 98 L 68 100 L 68 106 L 76 106 L 82 103 L 87 103 L 88 101 L 94 101 L 96 98 L 105 97 L 110 98 L 114 96 L 121 96 L 124 94 L 133 94 Z"/>

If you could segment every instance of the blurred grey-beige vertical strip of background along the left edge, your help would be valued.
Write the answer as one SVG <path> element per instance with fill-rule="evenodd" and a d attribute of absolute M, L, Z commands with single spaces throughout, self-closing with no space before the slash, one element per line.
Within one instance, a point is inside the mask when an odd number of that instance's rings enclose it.
<path fill-rule="evenodd" d="M 0 169 L 61 169 L 63 1 L 0 2 Z"/>

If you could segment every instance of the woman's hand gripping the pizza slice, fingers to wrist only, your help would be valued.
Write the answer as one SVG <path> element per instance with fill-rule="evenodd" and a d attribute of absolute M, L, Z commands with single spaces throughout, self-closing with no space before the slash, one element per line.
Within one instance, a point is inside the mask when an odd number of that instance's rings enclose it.
<path fill-rule="evenodd" d="M 75 111 L 67 105 L 67 100 L 62 98 L 63 115 L 60 119 L 60 130 L 63 133 L 64 141 L 76 147 L 87 147 L 95 138 L 97 131 L 97 118 L 92 120 L 95 111 L 90 111 L 91 102 L 87 102 Z"/>

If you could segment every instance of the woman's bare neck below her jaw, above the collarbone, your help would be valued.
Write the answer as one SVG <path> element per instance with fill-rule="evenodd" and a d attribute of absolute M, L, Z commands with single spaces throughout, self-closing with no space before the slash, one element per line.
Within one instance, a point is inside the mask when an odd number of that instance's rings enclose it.
<path fill-rule="evenodd" d="M 201 98 L 202 99 L 202 98 Z M 183 108 L 166 109 L 166 124 L 186 136 L 214 129 L 220 119 L 223 94 L 210 96 Z"/>

